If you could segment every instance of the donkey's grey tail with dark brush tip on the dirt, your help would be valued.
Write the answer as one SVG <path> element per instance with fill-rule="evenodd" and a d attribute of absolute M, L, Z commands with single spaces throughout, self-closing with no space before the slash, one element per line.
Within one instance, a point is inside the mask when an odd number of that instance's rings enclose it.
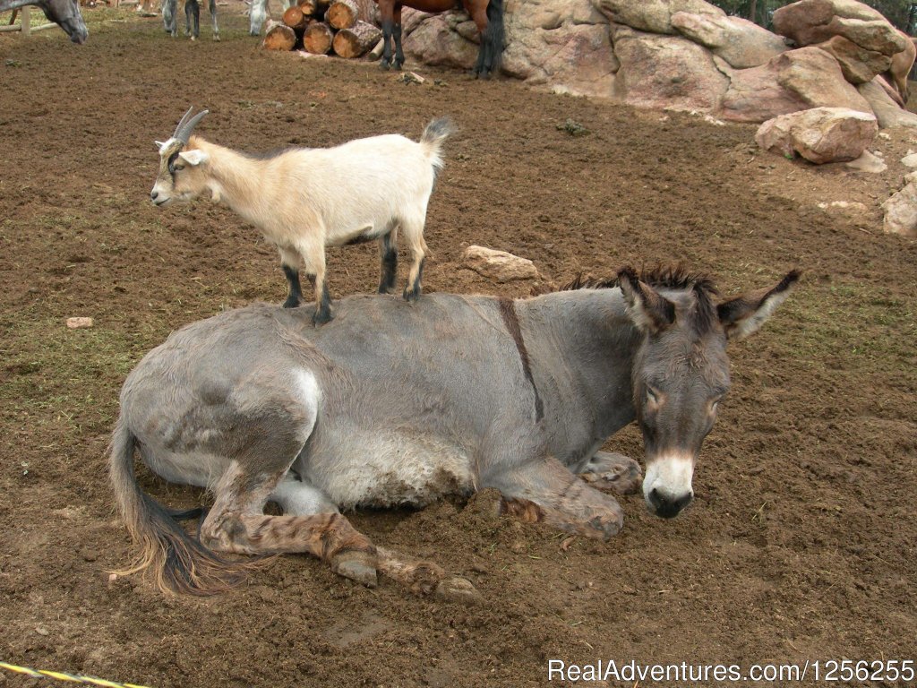
<path fill-rule="evenodd" d="M 108 445 L 108 472 L 117 505 L 131 538 L 140 545 L 138 558 L 127 568 L 113 571 L 128 575 L 150 569 L 163 592 L 215 594 L 238 583 L 251 564 L 226 561 L 189 536 L 171 512 L 144 494 L 134 474 L 137 438 L 118 418 Z"/>

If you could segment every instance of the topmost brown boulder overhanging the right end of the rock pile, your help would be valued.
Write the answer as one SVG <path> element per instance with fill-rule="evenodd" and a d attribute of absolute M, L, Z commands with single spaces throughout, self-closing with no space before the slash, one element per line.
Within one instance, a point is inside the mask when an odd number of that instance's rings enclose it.
<path fill-rule="evenodd" d="M 800 0 L 774 12 L 774 31 L 804 47 L 843 36 L 866 50 L 892 56 L 904 37 L 872 7 L 854 0 Z"/>

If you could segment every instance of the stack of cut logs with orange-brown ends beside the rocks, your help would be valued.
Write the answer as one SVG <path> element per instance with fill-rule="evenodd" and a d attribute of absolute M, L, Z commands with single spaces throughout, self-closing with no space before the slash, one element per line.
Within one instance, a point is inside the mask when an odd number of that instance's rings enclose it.
<path fill-rule="evenodd" d="M 334 52 L 359 58 L 375 46 L 382 34 L 376 27 L 375 0 L 299 0 L 271 22 L 262 44 L 268 50 L 302 48 L 315 55 Z"/>

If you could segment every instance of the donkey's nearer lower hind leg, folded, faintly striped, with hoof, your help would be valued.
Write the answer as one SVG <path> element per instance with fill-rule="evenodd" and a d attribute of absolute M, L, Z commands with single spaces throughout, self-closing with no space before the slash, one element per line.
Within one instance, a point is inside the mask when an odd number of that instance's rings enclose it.
<path fill-rule="evenodd" d="M 290 462 L 293 462 L 291 458 Z M 286 472 L 265 472 L 232 461 L 216 484 L 215 503 L 201 527 L 201 541 L 210 549 L 238 554 L 309 552 L 331 570 L 370 587 L 376 584 L 376 551 L 337 511 L 310 516 L 266 516 L 264 505 L 276 493 Z M 281 492 L 290 493 L 290 488 Z M 274 497 L 295 499 L 289 494 Z M 304 498 L 300 498 L 304 502 Z"/>

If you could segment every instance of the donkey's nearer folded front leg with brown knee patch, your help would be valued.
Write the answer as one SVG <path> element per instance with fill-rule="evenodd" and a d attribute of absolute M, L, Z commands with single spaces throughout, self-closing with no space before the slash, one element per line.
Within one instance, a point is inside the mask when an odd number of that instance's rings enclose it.
<path fill-rule="evenodd" d="M 485 487 L 503 494 L 503 512 L 588 538 L 608 539 L 624 525 L 614 497 L 583 483 L 553 457 L 495 476 Z"/>

